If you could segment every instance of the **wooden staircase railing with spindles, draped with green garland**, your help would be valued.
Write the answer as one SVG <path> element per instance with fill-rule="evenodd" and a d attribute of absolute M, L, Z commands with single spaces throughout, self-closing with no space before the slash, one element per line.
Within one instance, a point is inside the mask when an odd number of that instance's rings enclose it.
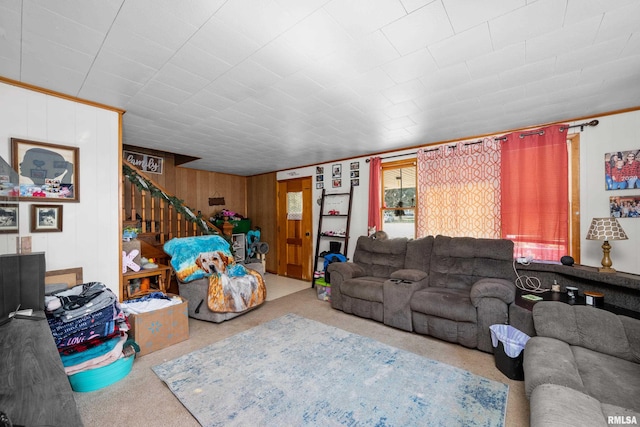
<path fill-rule="evenodd" d="M 124 159 L 122 188 L 122 228 L 138 229 L 140 252 L 145 258 L 166 264 L 168 256 L 162 247 L 174 237 L 219 234 L 231 238 L 232 224 L 225 222 L 224 231 L 220 230 Z"/>

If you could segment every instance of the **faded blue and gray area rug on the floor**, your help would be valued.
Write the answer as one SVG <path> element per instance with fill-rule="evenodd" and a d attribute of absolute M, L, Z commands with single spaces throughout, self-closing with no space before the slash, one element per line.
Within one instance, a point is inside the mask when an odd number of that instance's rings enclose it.
<path fill-rule="evenodd" d="M 502 426 L 508 386 L 294 314 L 153 367 L 204 426 Z"/>

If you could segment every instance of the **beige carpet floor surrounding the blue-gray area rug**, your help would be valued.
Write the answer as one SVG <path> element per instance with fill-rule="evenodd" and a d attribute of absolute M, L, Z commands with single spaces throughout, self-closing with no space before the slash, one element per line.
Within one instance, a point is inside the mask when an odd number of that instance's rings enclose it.
<path fill-rule="evenodd" d="M 131 373 L 116 384 L 90 393 L 75 393 L 85 426 L 198 426 L 191 414 L 153 373 L 151 367 L 286 313 L 295 313 L 368 336 L 474 374 L 504 382 L 509 385 L 506 425 L 529 425 L 529 402 L 524 394 L 524 383 L 509 380 L 496 369 L 493 355 L 345 314 L 332 309 L 328 302 L 318 300 L 316 290 L 308 288 L 267 301 L 256 310 L 220 324 L 189 319 L 190 338 L 187 341 L 136 359 Z M 309 369 L 322 369 L 321 355 L 318 355 L 317 359 L 309 360 Z M 238 375 L 242 373 L 238 372 Z"/>

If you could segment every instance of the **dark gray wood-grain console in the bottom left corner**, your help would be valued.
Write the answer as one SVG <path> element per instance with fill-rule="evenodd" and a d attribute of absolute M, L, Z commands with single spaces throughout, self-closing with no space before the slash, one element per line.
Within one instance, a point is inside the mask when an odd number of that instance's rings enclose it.
<path fill-rule="evenodd" d="M 0 410 L 13 425 L 82 426 L 44 312 L 0 326 Z"/>

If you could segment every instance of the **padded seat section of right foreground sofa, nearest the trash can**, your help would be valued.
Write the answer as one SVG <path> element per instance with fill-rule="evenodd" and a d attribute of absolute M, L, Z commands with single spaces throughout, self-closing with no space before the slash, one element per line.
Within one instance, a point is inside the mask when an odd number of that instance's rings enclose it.
<path fill-rule="evenodd" d="M 571 346 L 548 337 L 532 337 L 524 348 L 524 384 L 527 397 L 542 384 L 557 384 L 585 392 Z"/>

